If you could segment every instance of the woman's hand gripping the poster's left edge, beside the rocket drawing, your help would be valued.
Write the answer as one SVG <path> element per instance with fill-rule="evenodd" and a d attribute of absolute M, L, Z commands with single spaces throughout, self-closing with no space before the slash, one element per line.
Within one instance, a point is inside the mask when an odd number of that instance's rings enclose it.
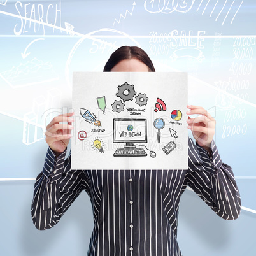
<path fill-rule="evenodd" d="M 45 140 L 56 156 L 64 152 L 71 138 L 71 130 L 74 119 L 71 117 L 74 113 L 66 113 L 54 117 L 46 126 Z M 68 122 L 68 124 L 60 124 L 60 122 Z"/>

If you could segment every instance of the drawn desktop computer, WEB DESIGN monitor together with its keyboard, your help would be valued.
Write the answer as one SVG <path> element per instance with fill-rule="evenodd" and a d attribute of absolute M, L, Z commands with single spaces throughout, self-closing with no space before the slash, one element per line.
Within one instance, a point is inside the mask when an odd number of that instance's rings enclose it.
<path fill-rule="evenodd" d="M 137 148 L 138 143 L 147 143 L 146 119 L 115 118 L 113 119 L 113 143 L 124 143 L 117 148 L 114 157 L 146 157 L 144 148 Z"/>

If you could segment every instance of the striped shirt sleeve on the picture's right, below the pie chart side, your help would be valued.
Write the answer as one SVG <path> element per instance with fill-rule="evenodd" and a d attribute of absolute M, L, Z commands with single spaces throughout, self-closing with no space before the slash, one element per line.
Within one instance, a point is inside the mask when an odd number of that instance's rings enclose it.
<path fill-rule="evenodd" d="M 215 142 L 211 152 L 188 139 L 187 185 L 201 197 L 218 216 L 234 220 L 241 212 L 241 198 L 232 168 L 222 162 Z"/>

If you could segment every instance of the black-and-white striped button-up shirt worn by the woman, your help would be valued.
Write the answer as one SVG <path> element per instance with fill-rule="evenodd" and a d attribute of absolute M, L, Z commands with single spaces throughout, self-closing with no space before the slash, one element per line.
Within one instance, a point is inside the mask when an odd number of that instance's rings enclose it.
<path fill-rule="evenodd" d="M 65 155 L 55 157 L 48 148 L 34 186 L 32 220 L 50 229 L 85 190 L 94 218 L 88 255 L 181 255 L 178 210 L 187 185 L 221 218 L 236 219 L 241 211 L 234 174 L 214 141 L 208 153 L 188 139 L 186 170 L 73 170 L 71 153 Z"/>

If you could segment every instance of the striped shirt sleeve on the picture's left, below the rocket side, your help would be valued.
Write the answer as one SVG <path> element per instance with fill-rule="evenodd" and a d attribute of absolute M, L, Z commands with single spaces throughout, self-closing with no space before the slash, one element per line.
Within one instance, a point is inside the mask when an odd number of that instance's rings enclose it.
<path fill-rule="evenodd" d="M 50 229 L 86 189 L 81 170 L 71 170 L 71 153 L 65 160 L 67 150 L 58 157 L 49 147 L 43 171 L 34 184 L 31 215 L 37 229 Z"/>

